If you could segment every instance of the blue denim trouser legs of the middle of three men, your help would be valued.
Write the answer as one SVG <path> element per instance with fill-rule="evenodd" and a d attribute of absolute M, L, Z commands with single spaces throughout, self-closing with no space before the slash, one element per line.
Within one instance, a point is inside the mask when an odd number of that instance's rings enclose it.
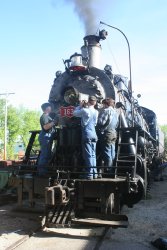
<path fill-rule="evenodd" d="M 82 153 L 86 165 L 86 177 L 96 177 L 96 141 L 87 139 L 82 141 Z"/>

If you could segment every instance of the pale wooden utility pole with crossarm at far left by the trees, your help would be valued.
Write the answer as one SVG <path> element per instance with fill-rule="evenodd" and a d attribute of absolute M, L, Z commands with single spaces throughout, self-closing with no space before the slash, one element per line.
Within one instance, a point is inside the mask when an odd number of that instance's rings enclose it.
<path fill-rule="evenodd" d="M 0 96 L 5 96 L 5 119 L 4 119 L 4 156 L 3 159 L 7 160 L 7 131 L 8 131 L 8 96 L 15 93 L 0 93 Z"/>

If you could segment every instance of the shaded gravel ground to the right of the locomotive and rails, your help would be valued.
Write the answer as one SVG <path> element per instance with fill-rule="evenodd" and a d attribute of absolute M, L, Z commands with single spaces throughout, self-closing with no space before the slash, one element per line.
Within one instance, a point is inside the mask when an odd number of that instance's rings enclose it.
<path fill-rule="evenodd" d="M 150 246 L 151 241 L 159 237 L 167 238 L 167 175 L 164 179 L 163 182 L 153 183 L 151 199 L 140 201 L 132 209 L 124 208 L 124 213 L 129 218 L 129 227 L 127 230 L 115 230 L 112 242 L 121 240 L 154 249 Z M 111 231 L 108 235 L 111 235 Z"/>

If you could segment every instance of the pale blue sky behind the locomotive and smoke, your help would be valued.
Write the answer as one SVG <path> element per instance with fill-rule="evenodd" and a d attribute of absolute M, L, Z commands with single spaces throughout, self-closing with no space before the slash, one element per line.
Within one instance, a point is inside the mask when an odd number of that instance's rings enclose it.
<path fill-rule="evenodd" d="M 83 0 L 84 1 L 84 0 Z M 87 1 L 87 0 L 85 0 Z M 73 4 L 63 0 L 0 0 L 0 93 L 15 92 L 14 105 L 38 110 L 48 100 L 62 59 L 79 52 L 84 26 Z M 134 94 L 167 124 L 167 1 L 94 0 L 100 20 L 119 27 L 131 45 Z M 110 28 L 102 42 L 102 66 L 129 75 L 127 45 Z"/>

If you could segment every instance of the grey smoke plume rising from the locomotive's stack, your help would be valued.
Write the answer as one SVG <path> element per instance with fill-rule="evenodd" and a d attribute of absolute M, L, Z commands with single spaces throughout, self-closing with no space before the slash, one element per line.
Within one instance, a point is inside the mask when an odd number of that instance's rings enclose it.
<path fill-rule="evenodd" d="M 95 34 L 98 27 L 97 0 L 66 0 L 74 4 L 74 11 L 84 24 L 86 35 Z"/>

